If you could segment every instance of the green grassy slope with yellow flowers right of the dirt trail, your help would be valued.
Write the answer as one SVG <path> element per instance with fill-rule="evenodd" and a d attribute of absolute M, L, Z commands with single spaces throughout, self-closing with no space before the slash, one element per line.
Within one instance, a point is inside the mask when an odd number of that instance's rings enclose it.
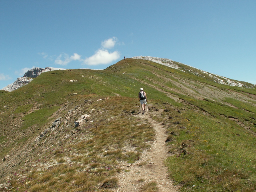
<path fill-rule="evenodd" d="M 176 154 L 166 164 L 182 191 L 254 191 L 255 136 L 227 118 L 182 113 L 179 126 L 166 122 Z"/>

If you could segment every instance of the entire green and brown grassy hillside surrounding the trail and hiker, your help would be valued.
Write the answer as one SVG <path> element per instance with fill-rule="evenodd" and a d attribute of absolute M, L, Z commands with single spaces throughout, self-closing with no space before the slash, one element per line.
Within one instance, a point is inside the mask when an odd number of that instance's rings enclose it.
<path fill-rule="evenodd" d="M 139 59 L 103 71 L 49 71 L 1 91 L 0 184 L 13 191 L 117 187 L 121 164 L 138 161 L 154 141 L 152 126 L 137 118 L 142 87 L 149 112 L 164 110 L 151 118 L 169 134 L 173 155 L 165 163 L 180 191 L 255 191 L 256 89 Z M 89 117 L 76 127 L 82 115 Z"/>

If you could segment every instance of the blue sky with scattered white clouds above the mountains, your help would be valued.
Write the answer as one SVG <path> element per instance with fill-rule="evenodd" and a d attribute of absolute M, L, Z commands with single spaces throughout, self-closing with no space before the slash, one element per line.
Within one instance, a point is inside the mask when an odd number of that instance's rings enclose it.
<path fill-rule="evenodd" d="M 256 84 L 256 1 L 0 0 L 0 89 L 29 69 L 167 58 Z"/>

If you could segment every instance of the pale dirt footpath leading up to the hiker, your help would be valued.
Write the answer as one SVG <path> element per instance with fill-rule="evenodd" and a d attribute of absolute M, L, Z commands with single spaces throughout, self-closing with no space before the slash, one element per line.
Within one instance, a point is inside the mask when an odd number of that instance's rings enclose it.
<path fill-rule="evenodd" d="M 121 172 L 117 175 L 119 178 L 119 187 L 112 189 L 114 192 L 138 192 L 141 188 L 150 182 L 156 182 L 158 192 L 177 192 L 178 187 L 173 185 L 172 180 L 168 179 L 167 167 L 164 160 L 170 156 L 168 147 L 165 145 L 167 134 L 161 123 L 157 123 L 150 116 L 160 115 L 161 111 L 138 113 L 137 117 L 141 120 L 147 120 L 151 123 L 156 136 L 155 141 L 151 142 L 151 148 L 143 152 L 140 160 L 134 164 L 124 165 L 127 172 Z"/>

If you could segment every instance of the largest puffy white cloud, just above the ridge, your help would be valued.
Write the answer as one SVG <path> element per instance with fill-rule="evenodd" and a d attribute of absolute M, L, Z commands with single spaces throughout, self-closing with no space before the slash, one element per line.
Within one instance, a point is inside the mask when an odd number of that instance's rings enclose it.
<path fill-rule="evenodd" d="M 87 65 L 108 64 L 119 58 L 120 58 L 120 53 L 118 51 L 109 53 L 108 50 L 99 49 L 97 52 L 95 52 L 93 56 L 86 58 L 84 60 L 84 63 Z"/>

